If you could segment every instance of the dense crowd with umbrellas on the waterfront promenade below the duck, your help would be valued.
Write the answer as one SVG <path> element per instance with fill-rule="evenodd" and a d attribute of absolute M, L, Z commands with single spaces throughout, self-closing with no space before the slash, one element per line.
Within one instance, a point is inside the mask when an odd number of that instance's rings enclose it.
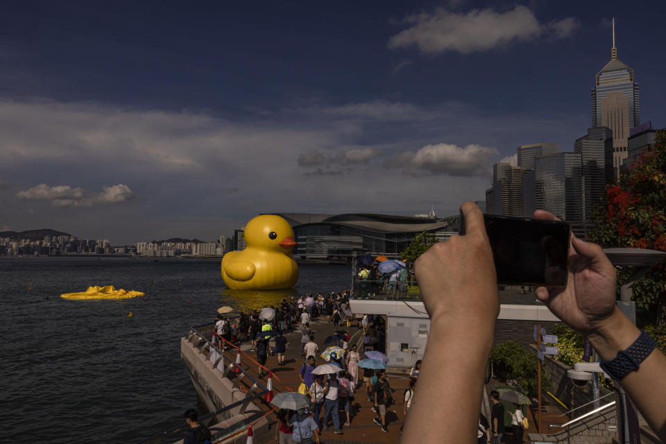
<path fill-rule="evenodd" d="M 364 393 L 370 403 L 369 407 L 375 414 L 373 422 L 388 432 L 386 413 L 387 408 L 393 404 L 393 390 L 386 372 L 358 366 L 366 350 L 386 351 L 386 324 L 382 316 L 364 315 L 355 319 L 349 307 L 350 297 L 352 291 L 345 290 L 327 296 L 307 293 L 300 298 L 284 298 L 277 305 L 266 307 L 275 311 L 273 318 L 268 319 L 260 319 L 260 312 L 253 310 L 237 316 L 216 316 L 214 343 L 228 349 L 232 347 L 231 344 L 240 345 L 248 341 L 249 351 L 255 352 L 255 359 L 259 363 L 259 377 L 268 373 L 265 365 L 269 355 L 275 355 L 278 366 L 284 366 L 284 355 L 289 350 L 285 334 L 300 333 L 297 337 L 300 337 L 298 346 L 303 361 L 296 369 L 302 383 L 298 391 L 307 397 L 309 407 L 300 411 L 278 412 L 276 442 L 318 442 L 319 434 L 329 428 L 335 434 L 343 434 L 343 427 L 351 425 L 355 398 L 359 393 Z M 310 323 L 315 319 L 334 325 L 335 341 L 323 344 L 316 342 L 316 332 Z M 357 343 L 350 343 L 349 330 L 352 323 L 362 331 Z M 334 352 L 324 360 L 321 352 L 328 345 L 337 346 L 342 352 Z M 340 370 L 337 373 L 317 375 L 314 372 L 318 367 L 317 361 L 320 364 L 335 363 Z M 411 405 L 419 367 L 420 362 L 410 373 L 412 382 L 404 394 L 405 414 Z"/>

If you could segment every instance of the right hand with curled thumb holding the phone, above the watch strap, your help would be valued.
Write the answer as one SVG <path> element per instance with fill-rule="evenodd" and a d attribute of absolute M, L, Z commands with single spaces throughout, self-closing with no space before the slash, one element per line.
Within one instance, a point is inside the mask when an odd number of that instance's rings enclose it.
<path fill-rule="evenodd" d="M 537 210 L 536 219 L 558 221 L 553 214 Z M 569 270 L 564 288 L 536 289 L 536 297 L 567 325 L 590 334 L 615 309 L 615 267 L 601 247 L 571 235 Z"/>

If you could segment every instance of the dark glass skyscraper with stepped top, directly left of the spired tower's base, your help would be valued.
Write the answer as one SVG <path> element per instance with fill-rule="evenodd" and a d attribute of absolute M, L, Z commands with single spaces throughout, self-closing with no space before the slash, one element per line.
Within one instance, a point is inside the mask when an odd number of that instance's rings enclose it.
<path fill-rule="evenodd" d="M 574 142 L 581 155 L 581 219 L 590 225 L 595 207 L 606 200 L 606 185 L 613 182 L 613 133 L 605 126 L 588 129 Z"/>

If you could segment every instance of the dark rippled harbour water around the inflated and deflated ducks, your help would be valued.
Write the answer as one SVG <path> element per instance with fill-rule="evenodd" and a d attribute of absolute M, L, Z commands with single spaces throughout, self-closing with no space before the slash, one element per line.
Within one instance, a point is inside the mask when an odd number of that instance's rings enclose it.
<path fill-rule="evenodd" d="M 180 336 L 221 305 L 260 308 L 290 293 L 225 289 L 220 259 L 158 260 L 0 257 L 3 440 L 132 443 L 178 425 L 197 406 Z M 341 291 L 350 273 L 300 266 L 291 293 Z M 105 284 L 146 297 L 60 298 Z"/>

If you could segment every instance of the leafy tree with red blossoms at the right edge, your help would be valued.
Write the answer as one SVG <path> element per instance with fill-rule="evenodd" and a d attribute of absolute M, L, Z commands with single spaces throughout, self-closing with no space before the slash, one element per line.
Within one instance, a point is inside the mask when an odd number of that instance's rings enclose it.
<path fill-rule="evenodd" d="M 657 132 L 656 144 L 633 162 L 620 182 L 606 189 L 606 205 L 592 216 L 595 228 L 588 236 L 604 248 L 651 248 L 666 251 L 666 130 Z M 618 272 L 618 282 L 631 269 Z M 666 261 L 654 266 L 633 285 L 636 305 L 654 314 L 648 319 L 666 327 Z"/>

